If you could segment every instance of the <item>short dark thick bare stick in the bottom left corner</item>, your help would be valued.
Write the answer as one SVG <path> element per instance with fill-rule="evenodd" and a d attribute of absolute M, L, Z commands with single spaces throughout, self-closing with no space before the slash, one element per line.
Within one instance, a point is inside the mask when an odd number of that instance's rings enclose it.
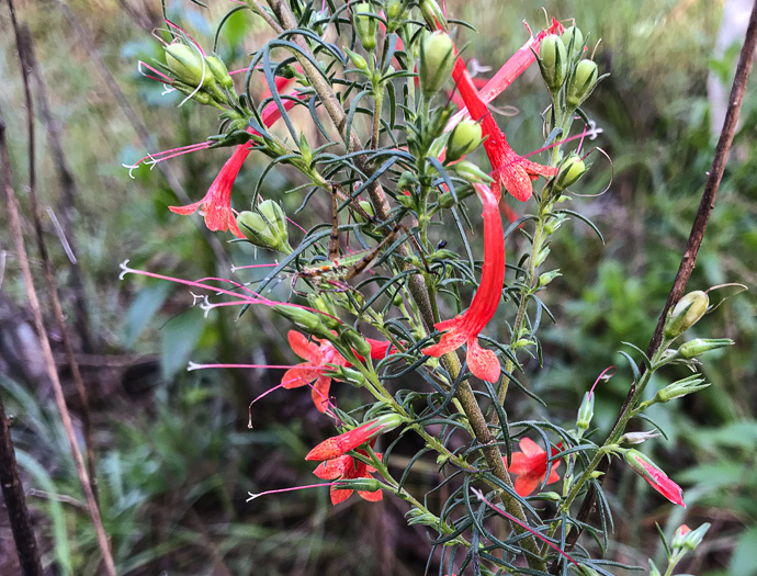
<path fill-rule="evenodd" d="M 2 128 L 0 127 L 0 129 Z M 21 574 L 42 576 L 39 550 L 29 519 L 24 489 L 21 479 L 19 479 L 19 466 L 15 462 L 11 430 L 2 405 L 2 394 L 0 394 L 0 484 L 2 485 L 2 497 L 8 509 L 8 517 L 11 521 L 15 550 L 19 553 Z"/>

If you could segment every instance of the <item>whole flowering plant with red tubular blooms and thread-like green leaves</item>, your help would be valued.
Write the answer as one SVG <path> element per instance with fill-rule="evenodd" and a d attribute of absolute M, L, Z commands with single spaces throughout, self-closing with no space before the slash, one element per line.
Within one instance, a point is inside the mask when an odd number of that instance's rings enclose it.
<path fill-rule="evenodd" d="M 590 168 L 584 142 L 598 133 L 589 134 L 580 108 L 601 80 L 584 34 L 554 20 L 535 35 L 527 27 L 526 44 L 483 81 L 473 77 L 464 59 L 470 55 L 459 52 L 445 11 L 433 0 L 250 7 L 273 37 L 244 63 L 238 80 L 167 21 L 165 61 L 142 69 L 185 101 L 222 110 L 222 133 L 145 162 L 233 147 L 207 194 L 170 210 L 202 211 L 211 230 L 228 230 L 234 241 L 279 252 L 280 260 L 236 262 L 238 281 L 171 279 L 126 264 L 124 271 L 204 291 L 199 302 L 208 312 L 263 305 L 291 321 L 292 358 L 302 361 L 263 366 L 283 372 L 275 388 L 253 400 L 250 421 L 255 403 L 274 389 L 309 387 L 313 409 L 337 429 L 326 440 L 312 439 L 317 445 L 304 455 L 319 462 L 313 473 L 329 481 L 331 501 L 353 492 L 365 506 L 405 500 L 408 523 L 428 527 L 440 573 L 610 574 L 592 549 L 565 550 L 566 534 L 578 526 L 577 500 L 592 484 L 601 493 L 598 465 L 621 456 L 652 488 L 683 506 L 680 487 L 630 448 L 654 434 L 626 434 L 625 427 L 651 405 L 705 385 L 694 375 L 644 395 L 653 374 L 670 363 L 694 366 L 697 357 L 731 341 L 674 347 L 708 309 L 707 294 L 691 293 L 671 310 L 653 357 L 635 349 L 642 368 L 626 354 L 636 392 L 607 439 L 591 429 L 594 389 L 575 422 L 556 415 L 508 420 L 510 384 L 533 396 L 518 377 L 523 359 L 541 360 L 536 330 L 551 314 L 541 293 L 560 276 L 543 270 L 551 238 L 569 219 L 584 219 L 565 207 Z M 511 147 L 507 123 L 489 104 L 534 65 L 549 94 L 547 137 L 541 150 L 527 154 Z M 300 124 L 293 109 L 302 111 Z M 479 147 L 485 154 L 476 153 Z M 258 153 L 271 168 L 289 166 L 297 183 L 268 199 L 235 192 L 245 160 Z M 321 195 L 331 214 L 306 230 L 296 222 L 307 223 L 302 211 L 285 213 L 287 193 L 300 195 L 303 207 Z M 506 227 L 501 210 L 510 199 L 521 202 L 524 215 Z M 240 208 L 245 203 L 249 210 Z M 298 228 L 296 240 L 290 225 Z M 506 244 L 515 230 L 529 248 L 511 257 L 517 266 L 507 274 Z M 286 282 L 274 282 L 280 279 Z M 352 398 L 364 405 L 344 410 Z M 423 448 L 403 470 L 392 456 L 407 434 L 420 437 Z M 520 451 L 512 450 L 515 441 Z M 405 486 L 420 461 L 436 461 L 440 485 L 448 486 L 450 496 L 438 507 Z M 305 484 L 300 487 L 313 488 Z M 609 537 L 608 499 L 599 501 L 601 526 L 583 528 Z M 511 529 L 505 539 L 501 522 Z"/>

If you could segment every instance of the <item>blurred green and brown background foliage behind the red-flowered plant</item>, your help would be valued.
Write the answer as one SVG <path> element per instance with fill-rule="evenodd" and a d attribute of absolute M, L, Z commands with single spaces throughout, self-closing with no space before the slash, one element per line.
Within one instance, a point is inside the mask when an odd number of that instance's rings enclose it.
<path fill-rule="evenodd" d="M 312 466 L 303 455 L 314 439 L 326 436 L 325 422 L 310 409 L 309 394 L 281 391 L 260 405 L 256 429 L 250 431 L 247 404 L 280 374 L 187 373 L 183 369 L 190 359 L 292 363 L 296 359 L 283 346 L 282 331 L 264 310 L 252 310 L 238 323 L 231 314 L 203 319 L 201 310 L 188 309 L 184 291 L 117 279 L 118 262 L 126 258 L 135 267 L 182 278 L 229 275 L 235 252 L 248 248 L 227 245 L 228 238 L 221 236 L 208 242 L 196 226 L 199 221 L 167 210 L 177 203 L 176 183 L 191 199 L 202 197 L 228 149 L 170 161 L 169 179 L 158 169 L 143 169 L 129 180 L 122 163 L 132 163 L 147 151 L 199 142 L 215 132 L 215 117 L 191 102 L 177 109 L 178 98 L 161 97 L 160 87 L 136 71 L 138 58 L 159 57 L 161 52 L 149 37 L 149 31 L 160 24 L 158 2 L 71 1 L 68 10 L 60 5 L 48 0 L 20 2 L 18 8 L 32 29 L 78 187 L 76 256 L 93 337 L 92 349 L 86 350 L 83 343 L 80 349 L 93 399 L 100 498 L 120 574 L 160 569 L 235 575 L 420 574 L 427 554 L 422 527 L 407 528 L 405 508 L 392 498 L 380 505 L 351 499 L 332 508 L 324 489 L 244 502 L 248 490 L 310 483 Z M 556 326 L 542 332 L 550 348 L 545 355 L 553 363 L 539 370 L 534 362 L 524 379 L 538 394 L 547 385 L 557 391 L 549 397 L 554 403 L 551 411 L 564 408 L 568 421 L 603 368 L 618 364 L 620 373 L 626 370 L 611 351 L 622 340 L 644 348 L 652 335 L 714 148 L 707 78 L 713 74 L 727 82 L 737 52 L 726 50 L 714 59 L 719 2 L 618 0 L 612 10 L 598 2 L 546 1 L 544 5 L 550 15 L 576 18 L 591 37 L 601 37 L 596 59 L 611 72 L 590 100 L 589 111 L 605 131 L 596 144 L 613 160 L 612 184 L 600 197 L 574 201 L 599 226 L 606 242 L 602 246 L 589 228 L 574 223 L 553 246 L 555 267 L 569 271 L 544 293 L 558 318 Z M 448 7 L 478 27 L 481 35 L 470 34 L 471 52 L 481 56 L 482 65 L 495 68 L 526 41 L 521 20 L 534 26 L 543 22 L 542 12 L 527 0 L 449 2 Z M 211 38 L 214 29 L 205 22 L 219 21 L 228 4 L 211 2 L 201 18 L 203 10 L 188 1 L 169 2 L 176 21 Z M 0 106 L 9 124 L 15 184 L 23 202 L 25 116 L 4 12 L 0 30 Z M 264 34 L 259 20 L 238 13 L 222 32 L 219 52 L 227 63 L 244 67 L 245 54 L 230 46 L 251 50 Z M 103 74 L 106 70 L 113 76 Z M 538 134 L 538 126 L 526 123 L 538 121 L 546 98 L 533 67 L 497 101 L 499 108 L 517 109 L 517 114 L 500 122 L 516 149 L 540 145 L 524 136 Z M 140 137 L 140 125 L 148 127 L 149 142 Z M 37 129 L 39 193 L 44 205 L 58 211 L 58 174 L 47 153 L 44 125 Z M 752 167 L 757 142 L 750 135 L 756 129 L 757 98 L 747 90 L 742 127 L 692 290 L 723 282 L 755 289 L 757 176 Z M 255 155 L 247 161 L 235 187 L 239 205 L 245 195 L 251 195 L 264 161 Z M 609 168 L 601 167 L 598 161 L 590 174 L 597 192 L 610 177 Z M 275 196 L 291 177 L 285 169 L 276 169 L 265 188 Z M 283 201 L 287 212 L 296 210 L 296 199 Z M 310 224 L 328 216 L 324 199 L 315 197 L 310 205 L 316 207 Z M 301 216 L 307 222 L 308 215 Z M 4 211 L 2 218 L 4 223 Z M 47 225 L 49 237 L 55 238 L 49 221 Z M 0 248 L 10 244 L 3 225 Z M 52 241 L 49 248 L 70 305 L 76 296 L 71 264 L 60 242 Z M 221 271 L 215 270 L 218 250 L 230 255 L 221 262 Z M 0 298 L 12 310 L 0 320 L 7 335 L 25 320 L 13 256 L 8 252 L 0 285 Z M 70 315 L 74 318 L 76 313 L 70 310 Z M 659 444 L 664 448 L 655 461 L 683 486 L 689 508 L 671 510 L 640 477 L 613 467 L 608 494 L 614 495 L 614 509 L 623 512 L 615 515 L 615 529 L 624 545 L 610 555 L 642 564 L 647 556 L 663 553 L 654 538 L 655 522 L 669 534 L 683 521 L 692 526 L 709 521 L 713 528 L 704 543 L 681 568 L 711 576 L 757 574 L 754 300 L 748 294 L 728 300 L 694 330 L 733 338 L 737 346 L 720 358 L 718 352 L 709 357 L 705 375 L 713 386 L 657 415 L 670 441 Z M 2 351 L 8 353 L 5 348 Z M 33 489 L 31 501 L 45 560 L 63 574 L 93 574 L 98 563 L 94 535 L 49 389 L 4 360 L 0 385 L 9 413 L 15 415 L 19 460 Z M 624 380 L 619 374 L 599 388 L 595 421 L 606 428 L 625 396 Z M 72 399 L 72 386 L 70 392 Z M 532 416 L 526 410 L 534 409 L 533 403 L 521 406 L 522 399 L 517 392 L 508 398 L 516 419 Z M 430 486 L 434 475 L 430 465 L 410 482 L 416 487 Z M 0 520 L 0 566 L 3 562 L 12 566 L 10 532 L 4 526 Z"/>

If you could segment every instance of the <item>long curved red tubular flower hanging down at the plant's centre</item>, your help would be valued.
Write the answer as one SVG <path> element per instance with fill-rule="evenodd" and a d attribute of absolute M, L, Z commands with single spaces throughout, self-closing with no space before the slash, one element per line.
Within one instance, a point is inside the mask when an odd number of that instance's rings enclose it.
<path fill-rule="evenodd" d="M 434 325 L 447 330 L 439 343 L 421 350 L 422 353 L 440 357 L 463 345 L 467 345 L 467 368 L 474 376 L 488 382 L 499 380 L 499 360 L 492 350 L 478 346 L 478 334 L 494 317 L 499 305 L 505 280 L 505 240 L 502 221 L 497 208 L 497 199 L 484 184 L 474 184 L 484 204 L 484 266 L 481 284 L 471 307 L 463 314 Z"/>

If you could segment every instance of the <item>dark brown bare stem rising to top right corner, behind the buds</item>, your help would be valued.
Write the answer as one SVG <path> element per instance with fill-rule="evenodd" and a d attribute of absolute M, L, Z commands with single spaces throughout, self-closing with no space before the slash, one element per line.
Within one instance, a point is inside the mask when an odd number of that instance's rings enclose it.
<path fill-rule="evenodd" d="M 697 211 L 697 216 L 694 217 L 693 226 L 691 227 L 691 234 L 689 235 L 689 240 L 686 242 L 686 248 L 683 249 L 683 256 L 681 257 L 681 263 L 676 274 L 676 280 L 673 282 L 673 287 L 670 289 L 670 294 L 665 303 L 663 313 L 659 315 L 657 320 L 657 327 L 655 328 L 649 346 L 646 349 L 646 355 L 652 357 L 659 348 L 663 340 L 663 328 L 665 326 L 665 318 L 667 317 L 670 307 L 678 302 L 683 295 L 686 285 L 689 283 L 691 278 L 691 272 L 693 271 L 694 263 L 697 262 L 697 255 L 699 253 L 699 248 L 702 245 L 702 239 L 704 238 L 704 231 L 707 230 L 708 222 L 710 222 L 710 215 L 712 210 L 715 207 L 715 196 L 718 195 L 718 189 L 720 188 L 720 182 L 723 179 L 723 171 L 725 170 L 725 162 L 728 158 L 728 153 L 731 151 L 731 145 L 733 144 L 733 137 L 736 133 L 736 122 L 738 121 L 738 114 L 742 110 L 742 103 L 744 102 L 744 93 L 746 91 L 747 80 L 749 79 L 749 72 L 752 70 L 752 64 L 755 58 L 755 47 L 757 46 L 757 0 L 752 8 L 752 15 L 749 18 L 749 25 L 746 30 L 746 36 L 744 38 L 744 45 L 742 46 L 742 53 L 738 57 L 738 64 L 736 66 L 736 75 L 733 80 L 733 87 L 731 88 L 731 98 L 728 100 L 728 109 L 725 114 L 725 122 L 723 123 L 723 131 L 721 132 L 720 139 L 718 140 L 718 146 L 715 148 L 715 156 L 712 160 L 712 168 L 708 172 L 707 183 L 704 184 L 704 191 L 702 192 L 702 200 L 699 204 L 699 210 Z M 629 394 L 623 403 L 615 426 L 620 422 L 621 418 L 630 408 L 631 398 L 636 391 L 635 384 L 631 385 Z M 607 472 L 610 466 L 609 460 L 602 460 L 598 466 L 598 471 Z M 605 475 L 598 478 L 601 484 Z M 577 527 L 583 526 L 588 519 L 589 515 L 594 510 L 597 504 L 597 493 L 591 486 L 581 502 L 581 507 L 578 510 L 578 516 L 576 517 L 578 523 Z M 578 537 L 581 533 L 580 528 L 574 528 L 565 543 L 565 550 L 569 552 L 575 546 Z M 552 573 L 556 574 L 557 565 L 556 563 L 552 565 Z"/>

